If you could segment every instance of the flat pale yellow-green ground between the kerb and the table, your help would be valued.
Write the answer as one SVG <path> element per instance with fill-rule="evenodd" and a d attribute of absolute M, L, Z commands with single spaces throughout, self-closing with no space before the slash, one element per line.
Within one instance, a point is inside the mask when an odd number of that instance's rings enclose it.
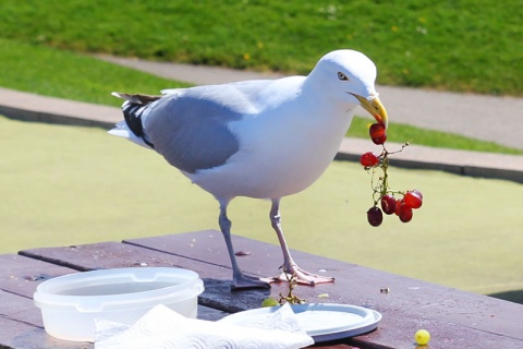
<path fill-rule="evenodd" d="M 218 228 L 218 203 L 153 152 L 96 128 L 0 118 L 0 253 Z M 389 174 L 393 188 L 424 193 L 410 224 L 386 217 L 370 227 L 369 174 L 335 161 L 282 201 L 291 248 L 474 292 L 523 289 L 523 236 L 514 228 L 523 226 L 523 185 Z M 234 233 L 276 244 L 269 207 L 234 200 Z"/>

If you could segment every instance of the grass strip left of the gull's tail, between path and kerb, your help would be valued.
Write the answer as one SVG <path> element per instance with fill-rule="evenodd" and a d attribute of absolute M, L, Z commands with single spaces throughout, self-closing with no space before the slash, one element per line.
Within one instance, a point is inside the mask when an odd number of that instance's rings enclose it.
<path fill-rule="evenodd" d="M 0 86 L 104 105 L 122 104 L 112 91 L 157 94 L 166 86 L 187 86 L 85 55 L 5 39 L 0 39 Z"/>

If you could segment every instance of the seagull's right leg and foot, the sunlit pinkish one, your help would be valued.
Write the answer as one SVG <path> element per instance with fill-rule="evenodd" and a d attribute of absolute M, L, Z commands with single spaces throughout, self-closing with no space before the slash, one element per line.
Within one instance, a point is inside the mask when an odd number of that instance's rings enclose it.
<path fill-rule="evenodd" d="M 278 240 L 280 241 L 281 251 L 283 252 L 283 273 L 279 277 L 280 280 L 287 281 L 285 273 L 290 275 L 294 275 L 296 277 L 297 282 L 305 284 L 305 285 L 316 285 L 316 284 L 324 284 L 324 282 L 332 282 L 335 280 L 333 277 L 326 277 L 319 276 L 316 274 L 312 274 L 305 272 L 304 269 L 300 268 L 296 263 L 292 260 L 291 252 L 287 245 L 285 237 L 283 236 L 283 230 L 281 229 L 281 215 L 280 215 L 280 200 L 273 198 L 272 206 L 270 207 L 270 222 L 272 228 L 278 236 Z"/>

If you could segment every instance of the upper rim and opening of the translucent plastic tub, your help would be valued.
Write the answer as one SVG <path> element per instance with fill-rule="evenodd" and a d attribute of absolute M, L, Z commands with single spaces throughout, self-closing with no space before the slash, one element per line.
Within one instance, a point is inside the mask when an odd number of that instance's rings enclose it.
<path fill-rule="evenodd" d="M 203 281 L 195 272 L 135 267 L 59 276 L 40 284 L 34 300 L 39 308 L 75 306 L 81 312 L 98 312 L 121 306 L 147 306 L 147 303 L 162 299 L 183 301 L 203 291 Z"/>

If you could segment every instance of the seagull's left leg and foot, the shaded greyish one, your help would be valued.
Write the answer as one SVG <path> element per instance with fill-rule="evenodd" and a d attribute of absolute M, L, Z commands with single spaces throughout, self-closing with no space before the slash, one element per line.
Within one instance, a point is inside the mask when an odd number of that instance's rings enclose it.
<path fill-rule="evenodd" d="M 231 288 L 244 289 L 244 288 L 269 288 L 270 285 L 260 278 L 247 276 L 242 273 L 240 269 L 236 255 L 234 254 L 234 248 L 232 246 L 231 240 L 231 220 L 227 217 L 227 206 L 229 201 L 220 201 L 220 217 L 218 222 L 220 225 L 221 232 L 223 233 L 223 239 L 226 240 L 227 250 L 229 251 L 229 257 L 231 258 L 232 265 L 232 285 Z"/>

